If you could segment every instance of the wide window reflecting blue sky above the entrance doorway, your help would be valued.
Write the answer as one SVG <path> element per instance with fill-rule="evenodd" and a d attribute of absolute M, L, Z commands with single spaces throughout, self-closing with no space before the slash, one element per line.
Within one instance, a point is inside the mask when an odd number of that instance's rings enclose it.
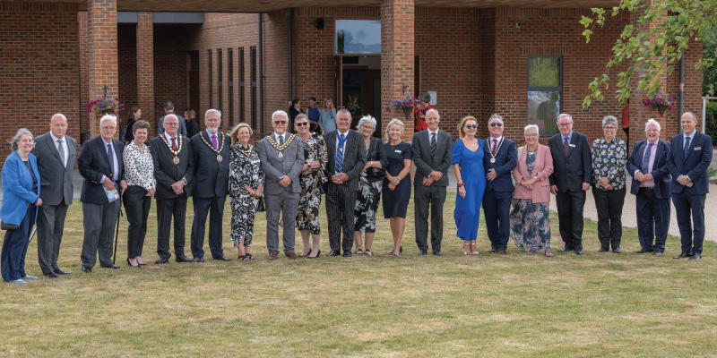
<path fill-rule="evenodd" d="M 337 54 L 380 54 L 381 21 L 337 20 Z"/>

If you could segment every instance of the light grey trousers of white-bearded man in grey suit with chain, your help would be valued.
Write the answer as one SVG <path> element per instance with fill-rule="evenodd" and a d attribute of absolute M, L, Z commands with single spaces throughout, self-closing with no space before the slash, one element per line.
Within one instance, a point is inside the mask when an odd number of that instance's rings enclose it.
<path fill-rule="evenodd" d="M 297 225 L 298 192 L 282 192 L 281 194 L 264 194 L 266 207 L 266 248 L 269 253 L 279 253 L 279 214 L 283 214 L 284 253 L 294 251 Z"/>

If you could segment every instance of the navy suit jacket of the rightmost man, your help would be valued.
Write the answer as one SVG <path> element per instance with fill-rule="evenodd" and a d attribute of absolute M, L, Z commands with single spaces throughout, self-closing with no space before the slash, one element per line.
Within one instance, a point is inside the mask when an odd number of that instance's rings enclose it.
<path fill-rule="evenodd" d="M 710 178 L 707 167 L 712 163 L 712 137 L 696 132 L 695 138 L 689 143 L 689 151 L 685 158 L 685 142 L 682 133 L 669 140 L 672 149 L 669 152 L 667 166 L 672 175 L 672 193 L 687 192 L 700 195 L 710 192 Z M 687 175 L 692 180 L 692 187 L 678 183 L 679 175 Z"/>

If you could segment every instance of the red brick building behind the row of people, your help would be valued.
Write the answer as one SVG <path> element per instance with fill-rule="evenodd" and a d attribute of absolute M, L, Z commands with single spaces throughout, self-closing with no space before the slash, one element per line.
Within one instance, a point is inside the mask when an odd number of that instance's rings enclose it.
<path fill-rule="evenodd" d="M 619 118 L 622 106 L 608 98 L 583 108 L 588 83 L 604 72 L 620 31 L 639 14 L 610 19 L 589 44 L 578 21 L 591 15 L 583 6 L 617 3 L 0 2 L 0 132 L 7 138 L 21 126 L 46 132 L 50 116 L 60 112 L 69 134 L 80 138 L 91 131 L 84 106 L 107 86 L 128 108 L 142 107 L 151 124 L 172 100 L 180 114 L 193 107 L 201 119 L 218 108 L 224 128 L 247 122 L 260 135 L 271 131 L 268 118 L 287 110 L 290 98 L 329 97 L 345 105 L 348 96 L 358 102 L 357 115 L 385 124 L 403 119 L 383 110 L 392 99 L 435 92 L 441 126 L 454 136 L 463 115 L 482 121 L 498 113 L 506 136 L 521 142 L 529 123 L 544 135 L 557 132 L 549 118 L 562 112 L 574 115 L 574 129 L 592 140 L 602 134 L 601 118 Z M 692 64 L 701 55 L 699 44 L 686 53 L 683 103 L 698 117 L 702 72 Z M 677 73 L 667 78 L 664 91 L 677 96 L 678 81 Z M 644 97 L 633 91 L 631 141 L 642 138 L 651 117 L 661 121 L 664 137 L 678 132 L 678 111 L 661 116 L 640 104 Z M 8 151 L 2 148 L 0 158 Z"/>

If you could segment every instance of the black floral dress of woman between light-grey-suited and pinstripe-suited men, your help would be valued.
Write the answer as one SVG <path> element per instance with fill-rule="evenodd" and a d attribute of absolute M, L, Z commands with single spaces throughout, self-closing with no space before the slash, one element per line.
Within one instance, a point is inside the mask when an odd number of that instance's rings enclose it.
<path fill-rule="evenodd" d="M 301 183 L 301 196 L 298 199 L 297 229 L 308 230 L 311 234 L 321 234 L 319 224 L 319 205 L 321 205 L 321 187 L 325 182 L 326 142 L 324 137 L 312 133 L 304 142 L 304 162 L 311 164 L 318 160 L 321 166 L 301 172 L 298 181 Z"/>

